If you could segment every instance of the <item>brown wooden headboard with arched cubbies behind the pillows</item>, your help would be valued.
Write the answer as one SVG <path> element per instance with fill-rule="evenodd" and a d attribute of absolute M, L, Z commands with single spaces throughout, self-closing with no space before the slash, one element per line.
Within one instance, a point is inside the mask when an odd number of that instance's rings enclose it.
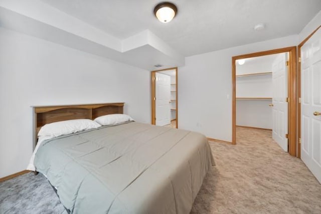
<path fill-rule="evenodd" d="M 124 103 L 100 103 L 63 106 L 32 106 L 34 112 L 34 149 L 37 134 L 42 126 L 48 123 L 73 120 L 95 119 L 107 114 L 122 114 Z"/>

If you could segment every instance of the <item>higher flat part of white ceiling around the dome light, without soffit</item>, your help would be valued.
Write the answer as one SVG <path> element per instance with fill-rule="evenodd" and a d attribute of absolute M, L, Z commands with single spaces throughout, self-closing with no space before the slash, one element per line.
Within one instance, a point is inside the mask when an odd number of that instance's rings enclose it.
<path fill-rule="evenodd" d="M 177 17 L 153 16 L 159 0 L 42 0 L 120 40 L 150 30 L 184 56 L 298 34 L 320 11 L 320 0 L 172 0 Z M 255 32 L 255 24 L 266 29 Z"/>

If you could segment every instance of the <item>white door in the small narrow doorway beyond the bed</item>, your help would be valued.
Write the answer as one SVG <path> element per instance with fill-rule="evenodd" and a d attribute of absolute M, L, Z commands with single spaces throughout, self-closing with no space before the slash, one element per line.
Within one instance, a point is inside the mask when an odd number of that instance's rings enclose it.
<path fill-rule="evenodd" d="M 171 76 L 156 73 L 155 78 L 156 125 L 165 126 L 171 123 Z"/>

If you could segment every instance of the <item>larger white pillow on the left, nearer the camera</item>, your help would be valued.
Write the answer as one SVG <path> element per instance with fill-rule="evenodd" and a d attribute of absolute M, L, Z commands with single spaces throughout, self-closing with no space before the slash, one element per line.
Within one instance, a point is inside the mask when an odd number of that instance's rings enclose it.
<path fill-rule="evenodd" d="M 65 120 L 49 123 L 41 127 L 38 136 L 58 137 L 79 131 L 99 128 L 101 125 L 89 119 Z"/>

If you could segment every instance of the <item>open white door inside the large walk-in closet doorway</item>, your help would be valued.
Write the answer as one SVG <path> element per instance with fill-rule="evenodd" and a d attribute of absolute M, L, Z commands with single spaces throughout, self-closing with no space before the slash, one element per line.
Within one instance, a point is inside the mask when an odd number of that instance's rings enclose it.
<path fill-rule="evenodd" d="M 288 54 L 279 54 L 272 65 L 272 86 L 273 86 L 273 126 L 272 137 L 279 146 L 287 152 L 287 72 Z"/>

